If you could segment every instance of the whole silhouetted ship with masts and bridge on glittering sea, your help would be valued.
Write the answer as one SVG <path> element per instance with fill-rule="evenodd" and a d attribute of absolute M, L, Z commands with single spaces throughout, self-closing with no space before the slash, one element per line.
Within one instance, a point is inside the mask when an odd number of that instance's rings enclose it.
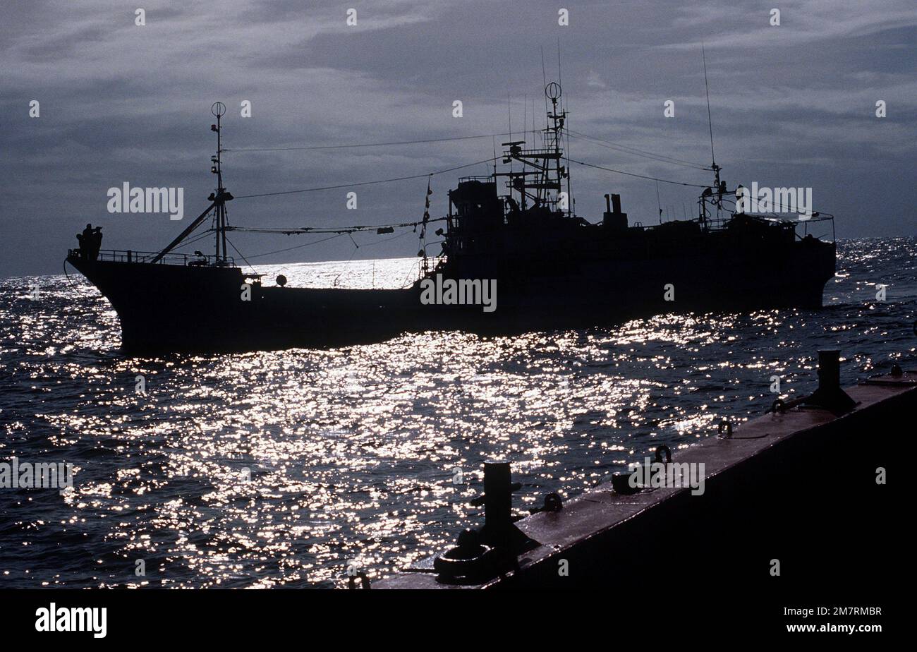
<path fill-rule="evenodd" d="M 221 169 L 221 103 L 212 126 L 217 187 L 204 212 L 159 252 L 82 246 L 67 261 L 111 302 L 122 349 L 139 354 L 331 347 L 425 330 L 518 333 L 675 311 L 821 307 L 824 284 L 834 276 L 833 215 L 796 221 L 730 209 L 735 189 L 721 181 L 712 157 L 714 182 L 698 198 L 694 219 L 629 224 L 620 196 L 606 194 L 602 220 L 593 224 L 575 214 L 569 193 L 569 163 L 580 161 L 564 156 L 560 86 L 549 83 L 545 93 L 551 106 L 540 147 L 503 143 L 504 167 L 494 159 L 489 176 L 460 179 L 444 217 L 429 217 L 428 186 L 423 220 L 371 227 L 419 227 L 425 242 L 432 223 L 445 223 L 436 229 L 442 251 L 428 257 L 424 245 L 409 287 L 294 288 L 282 277 L 269 285 L 262 274 L 242 271 L 226 250 L 227 231 L 322 231 L 226 223 L 233 196 Z M 174 253 L 208 218 L 215 254 Z M 808 234 L 824 221 L 831 241 Z M 495 291 L 492 310 L 481 305 L 485 288 Z"/>

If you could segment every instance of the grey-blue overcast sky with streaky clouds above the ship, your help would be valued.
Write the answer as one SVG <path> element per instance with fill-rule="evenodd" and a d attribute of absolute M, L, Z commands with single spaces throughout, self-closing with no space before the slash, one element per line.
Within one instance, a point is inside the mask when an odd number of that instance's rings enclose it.
<path fill-rule="evenodd" d="M 558 25 L 561 7 L 569 26 Z M 772 7 L 779 27 L 769 24 Z M 708 165 L 703 41 L 716 160 L 730 187 L 812 187 L 815 210 L 837 216 L 838 238 L 917 233 L 913 0 L 32 0 L 0 10 L 0 276 L 60 273 L 87 222 L 104 227 L 105 249 L 166 245 L 213 189 L 216 100 L 228 106 L 230 150 L 494 134 L 508 130 L 510 113 L 514 130 L 524 120 L 531 128 L 533 101 L 540 127 L 541 53 L 548 81 L 556 80 L 558 38 L 572 129 Z M 29 116 L 32 100 L 39 117 Z M 243 100 L 251 117 L 240 116 Z M 666 100 L 674 117 L 663 115 Z M 878 100 L 887 117 L 876 116 Z M 492 138 L 481 138 L 230 151 L 225 181 L 236 195 L 365 182 L 484 160 L 492 150 Z M 581 138 L 570 140 L 569 156 L 682 182 L 711 179 Z M 445 214 L 459 176 L 487 172 L 480 165 L 434 177 L 431 214 Z M 632 222 L 657 221 L 654 182 L 578 165 L 572 172 L 579 215 L 600 220 L 602 194 L 613 192 Z M 106 191 L 123 182 L 183 187 L 184 219 L 109 214 Z M 267 227 L 415 220 L 425 187 L 419 179 L 356 188 L 356 211 L 346 209 L 347 189 L 238 199 L 229 219 Z M 659 193 L 671 217 L 691 211 L 697 195 L 666 183 Z M 231 238 L 251 255 L 317 239 Z M 356 238 L 354 258 L 417 251 L 414 236 L 366 247 L 381 238 Z M 343 237 L 257 260 L 352 254 Z"/>

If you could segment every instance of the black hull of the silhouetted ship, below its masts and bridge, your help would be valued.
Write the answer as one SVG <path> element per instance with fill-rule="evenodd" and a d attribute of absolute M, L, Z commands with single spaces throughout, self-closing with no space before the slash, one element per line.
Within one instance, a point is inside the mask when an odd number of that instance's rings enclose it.
<path fill-rule="evenodd" d="M 653 260 L 588 255 L 453 260 L 434 273 L 495 281 L 495 309 L 421 301 L 395 290 L 263 287 L 234 267 L 68 261 L 111 302 L 132 354 L 326 348 L 408 332 L 487 335 L 602 326 L 671 312 L 818 308 L 834 276 L 834 244 L 673 249 Z"/>

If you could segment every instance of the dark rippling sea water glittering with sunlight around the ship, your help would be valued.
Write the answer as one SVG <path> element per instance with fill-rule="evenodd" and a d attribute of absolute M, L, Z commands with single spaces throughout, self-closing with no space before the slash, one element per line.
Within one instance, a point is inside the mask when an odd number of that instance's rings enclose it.
<path fill-rule="evenodd" d="M 481 523 L 468 502 L 485 459 L 513 463 L 524 510 L 763 413 L 771 376 L 784 396 L 811 392 L 819 348 L 841 349 L 845 383 L 917 368 L 915 253 L 911 238 L 842 241 L 817 311 L 158 359 L 119 352 L 115 312 L 78 273 L 5 279 L 0 462 L 72 463 L 74 486 L 0 488 L 0 587 L 328 588 L 349 564 L 392 573 Z M 260 270 L 395 287 L 415 265 Z"/>

